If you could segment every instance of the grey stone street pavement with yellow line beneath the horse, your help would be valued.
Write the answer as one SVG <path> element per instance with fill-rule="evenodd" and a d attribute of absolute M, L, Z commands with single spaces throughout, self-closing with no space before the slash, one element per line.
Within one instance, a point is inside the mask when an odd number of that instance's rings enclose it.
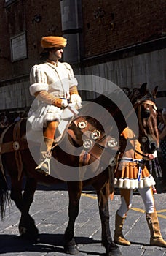
<path fill-rule="evenodd" d="M 159 224 L 166 239 L 166 193 L 154 195 Z M 114 236 L 114 219 L 120 206 L 120 196 L 116 192 L 109 201 L 111 234 Z M 18 222 L 20 212 L 15 204 L 7 208 L 0 226 L 0 254 L 7 256 L 64 256 L 63 233 L 68 222 L 68 191 L 66 185 L 55 187 L 39 186 L 30 210 L 39 229 L 39 242 L 31 244 L 19 237 Z M 133 206 L 127 214 L 124 235 L 131 246 L 119 246 L 123 256 L 166 256 L 166 249 L 149 245 L 149 228 L 145 219 L 143 201 L 138 193 L 133 195 Z M 87 187 L 82 192 L 79 217 L 76 219 L 75 238 L 80 256 L 104 255 L 101 246 L 101 225 L 95 191 Z"/>

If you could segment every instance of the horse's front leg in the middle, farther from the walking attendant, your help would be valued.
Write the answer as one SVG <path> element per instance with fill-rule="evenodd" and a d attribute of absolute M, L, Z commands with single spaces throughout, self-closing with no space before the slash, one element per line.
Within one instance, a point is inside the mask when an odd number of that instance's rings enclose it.
<path fill-rule="evenodd" d="M 82 194 L 82 182 L 68 182 L 68 226 L 65 231 L 65 250 L 66 253 L 75 255 L 79 253 L 74 240 L 74 223 L 79 214 L 79 199 Z"/>

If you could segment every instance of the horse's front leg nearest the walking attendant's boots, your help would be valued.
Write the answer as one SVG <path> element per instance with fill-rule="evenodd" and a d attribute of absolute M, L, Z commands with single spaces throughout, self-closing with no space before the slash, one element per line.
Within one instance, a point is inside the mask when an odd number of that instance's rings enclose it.
<path fill-rule="evenodd" d="M 111 237 L 111 230 L 109 225 L 109 208 L 108 208 L 108 196 L 109 196 L 109 184 L 107 183 L 102 189 L 97 190 L 98 195 L 98 207 L 102 228 L 102 244 L 106 248 L 107 256 L 119 256 L 122 253 L 119 247 L 114 243 Z"/>

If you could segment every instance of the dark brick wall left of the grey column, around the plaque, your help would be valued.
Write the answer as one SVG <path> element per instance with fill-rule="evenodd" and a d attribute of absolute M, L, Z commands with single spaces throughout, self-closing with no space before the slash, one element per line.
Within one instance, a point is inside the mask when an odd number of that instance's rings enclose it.
<path fill-rule="evenodd" d="M 40 39 L 45 35 L 62 34 L 60 1 L 13 1 L 4 7 L 0 1 L 0 77 L 1 80 L 28 75 L 33 64 L 39 61 Z M 41 15 L 37 23 L 34 18 Z M 10 38 L 26 31 L 28 58 L 11 62 Z"/>

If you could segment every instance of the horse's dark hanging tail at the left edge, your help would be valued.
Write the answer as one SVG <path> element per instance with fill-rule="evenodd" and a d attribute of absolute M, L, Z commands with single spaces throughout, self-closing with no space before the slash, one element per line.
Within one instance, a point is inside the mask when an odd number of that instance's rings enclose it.
<path fill-rule="evenodd" d="M 11 199 L 9 195 L 9 189 L 7 186 L 6 178 L 0 168 L 0 207 L 1 207 L 1 219 L 4 219 L 6 206 L 11 205 Z"/>

